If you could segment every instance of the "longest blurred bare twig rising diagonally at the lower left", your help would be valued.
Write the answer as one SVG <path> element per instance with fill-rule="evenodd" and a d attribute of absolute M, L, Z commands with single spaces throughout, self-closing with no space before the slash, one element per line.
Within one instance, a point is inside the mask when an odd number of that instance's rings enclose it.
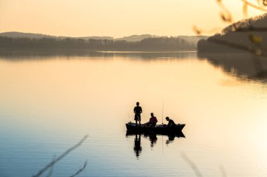
<path fill-rule="evenodd" d="M 53 167 L 54 164 L 56 164 L 58 161 L 60 161 L 61 159 L 63 159 L 63 157 L 65 157 L 66 155 L 68 155 L 70 152 L 72 152 L 72 150 L 78 148 L 79 146 L 82 145 L 82 143 L 84 143 L 84 141 L 88 138 L 88 135 L 85 135 L 81 141 L 79 141 L 79 143 L 77 143 L 76 145 L 72 146 L 71 148 L 67 149 L 65 151 L 65 153 L 63 153 L 62 155 L 60 155 L 59 157 L 57 157 L 55 160 L 53 160 L 52 162 L 50 162 L 49 164 L 46 165 L 46 167 L 44 167 L 44 169 L 41 169 L 37 174 L 35 174 L 32 177 L 38 177 L 41 176 L 41 174 L 43 174 L 46 170 L 48 170 L 49 168 Z"/>

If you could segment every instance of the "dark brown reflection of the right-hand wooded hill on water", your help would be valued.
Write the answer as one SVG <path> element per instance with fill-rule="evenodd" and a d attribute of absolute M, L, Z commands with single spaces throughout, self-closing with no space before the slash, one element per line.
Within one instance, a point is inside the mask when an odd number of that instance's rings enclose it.
<path fill-rule="evenodd" d="M 249 52 L 243 53 L 202 53 L 197 57 L 207 59 L 214 66 L 221 66 L 223 71 L 239 78 L 267 79 L 267 58 L 256 56 Z"/>

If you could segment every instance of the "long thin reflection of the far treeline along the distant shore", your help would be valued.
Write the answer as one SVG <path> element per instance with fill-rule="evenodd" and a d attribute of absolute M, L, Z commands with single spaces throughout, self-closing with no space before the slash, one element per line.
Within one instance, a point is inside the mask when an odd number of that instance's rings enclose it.
<path fill-rule="evenodd" d="M 129 57 L 133 59 L 195 58 L 196 52 L 93 52 L 90 50 L 0 50 L 0 59 L 49 59 L 52 57 Z"/>

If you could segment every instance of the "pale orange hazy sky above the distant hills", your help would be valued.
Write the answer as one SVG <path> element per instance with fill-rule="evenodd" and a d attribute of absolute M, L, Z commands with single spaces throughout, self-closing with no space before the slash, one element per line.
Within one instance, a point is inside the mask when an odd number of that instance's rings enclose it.
<path fill-rule="evenodd" d="M 250 0 L 256 1 L 256 0 Z M 224 0 L 234 20 L 242 2 Z M 22 31 L 56 36 L 193 35 L 225 27 L 216 0 L 0 0 L 0 32 Z M 249 8 L 249 15 L 261 14 Z"/>

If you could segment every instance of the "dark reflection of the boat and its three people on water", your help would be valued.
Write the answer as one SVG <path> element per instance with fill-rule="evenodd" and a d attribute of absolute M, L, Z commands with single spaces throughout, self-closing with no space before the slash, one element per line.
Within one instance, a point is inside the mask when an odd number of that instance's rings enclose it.
<path fill-rule="evenodd" d="M 157 135 L 158 134 L 148 133 L 148 132 L 142 134 L 137 134 L 136 132 L 131 132 L 131 131 L 126 132 L 126 138 L 130 136 L 135 136 L 133 144 L 133 152 L 135 153 L 136 157 L 139 157 L 142 151 L 141 136 L 143 136 L 145 139 L 149 139 L 150 148 L 153 148 L 157 143 Z M 160 134 L 160 135 L 168 136 L 166 144 L 173 143 L 175 138 L 185 138 L 183 132 L 178 132 L 177 134 Z"/>

